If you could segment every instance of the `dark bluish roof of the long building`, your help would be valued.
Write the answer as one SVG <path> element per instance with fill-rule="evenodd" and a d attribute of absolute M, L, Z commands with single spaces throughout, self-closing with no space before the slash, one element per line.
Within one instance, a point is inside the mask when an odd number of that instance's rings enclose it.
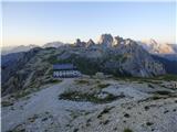
<path fill-rule="evenodd" d="M 76 67 L 73 64 L 54 64 L 53 69 L 75 69 Z"/>

